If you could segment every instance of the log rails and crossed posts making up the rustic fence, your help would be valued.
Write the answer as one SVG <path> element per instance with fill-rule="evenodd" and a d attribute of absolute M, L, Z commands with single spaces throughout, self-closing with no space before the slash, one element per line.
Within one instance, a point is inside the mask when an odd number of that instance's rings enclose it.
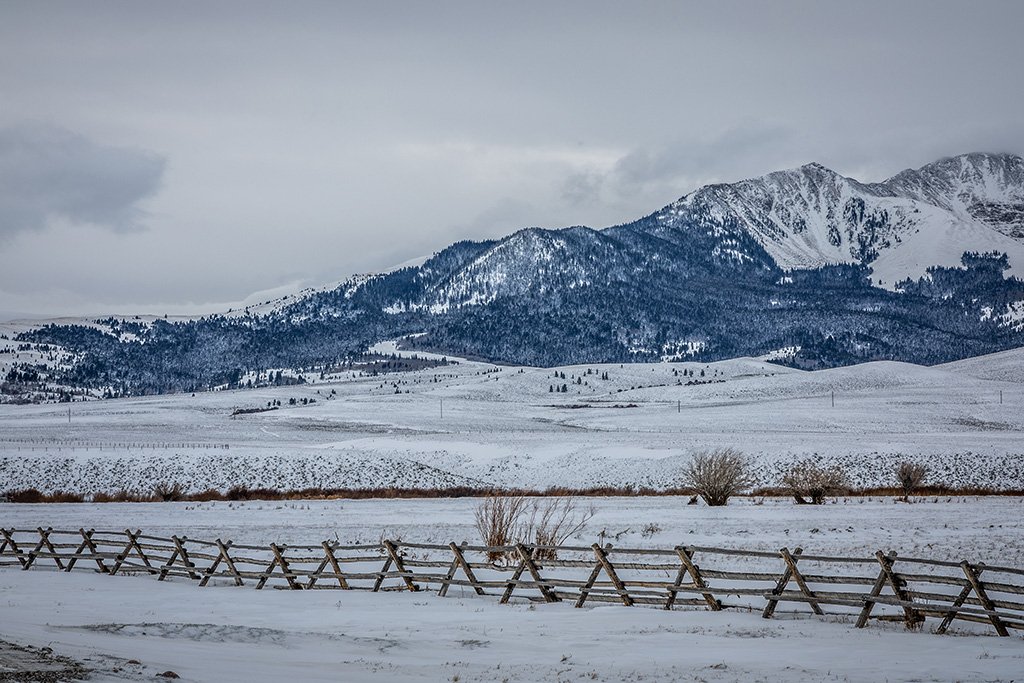
<path fill-rule="evenodd" d="M 34 535 L 26 539 L 26 535 Z M 70 536 L 74 541 L 60 541 L 61 537 Z M 56 539 L 56 542 L 54 541 Z M 26 550 L 29 544 L 31 550 Z M 19 545 L 20 543 L 20 545 Z M 189 547 L 190 546 L 190 547 Z M 112 549 L 112 550 L 104 550 Z M 451 560 L 433 559 L 417 560 L 408 556 L 407 550 L 424 549 L 443 556 L 451 553 Z M 295 553 L 305 551 L 309 556 L 296 557 Z M 345 553 L 369 551 L 370 555 L 352 556 Z M 468 552 L 482 553 L 486 562 L 472 561 Z M 240 553 L 255 554 L 243 556 Z M 291 554 L 290 554 L 291 553 Z M 311 553 L 311 554 L 310 554 Z M 591 561 L 584 559 L 559 560 L 560 553 L 573 554 L 583 557 L 590 553 Z M 771 558 L 781 560 L 780 574 L 764 572 L 742 572 L 729 570 L 702 571 L 694 562 L 697 553 L 710 555 L 738 555 L 768 561 Z M 623 557 L 624 559 L 612 559 Z M 630 557 L 662 557 L 654 563 L 631 561 Z M 760 597 L 766 601 L 762 616 L 771 618 L 780 602 L 806 603 L 814 614 L 824 614 L 822 605 L 837 605 L 847 609 L 859 608 L 856 626 L 863 628 L 871 618 L 892 620 L 893 614 L 873 614 L 879 605 L 898 608 L 902 612 L 902 621 L 908 629 L 918 628 L 926 615 L 940 617 L 941 624 L 937 633 L 945 633 L 954 620 L 990 625 L 999 636 L 1009 635 L 1010 629 L 1024 630 L 1024 602 L 1014 602 L 1009 599 L 993 599 L 990 591 L 1024 595 L 1024 585 L 1006 582 L 983 582 L 984 572 L 1000 572 L 1024 577 L 1024 570 L 1015 567 L 990 567 L 985 564 L 970 562 L 949 562 L 942 560 L 904 559 L 904 563 L 930 565 L 958 569 L 963 579 L 950 575 L 913 574 L 897 572 L 895 552 L 874 554 L 873 560 L 867 558 L 840 558 L 804 555 L 802 548 L 792 552 L 782 548 L 777 555 L 762 551 L 742 551 L 736 549 L 715 549 L 677 546 L 674 549 L 614 549 L 610 545 L 592 545 L 590 548 L 566 546 L 530 546 L 515 544 L 506 547 L 471 547 L 467 543 L 446 546 L 409 544 L 382 540 L 379 544 L 365 546 L 342 546 L 337 542 L 324 541 L 318 546 L 288 546 L 271 543 L 267 546 L 234 545 L 231 541 L 202 541 L 187 537 L 171 536 L 169 539 L 143 536 L 140 529 L 124 529 L 120 532 L 96 531 L 80 528 L 77 531 L 54 530 L 52 527 L 37 527 L 34 530 L 16 530 L 0 527 L 0 562 L 4 558 L 13 557 L 16 564 L 3 562 L 6 565 L 29 569 L 37 566 L 40 561 L 49 559 L 57 570 L 71 571 L 80 561 L 94 562 L 95 570 L 100 573 L 118 574 L 124 572 L 143 572 L 157 575 L 159 581 L 168 577 L 187 578 L 200 586 L 207 586 L 211 580 L 229 580 L 236 586 L 245 585 L 245 580 L 253 579 L 257 590 L 264 588 L 270 582 L 284 582 L 282 588 L 291 590 L 336 588 L 352 590 L 369 589 L 374 592 L 381 590 L 420 591 L 424 585 L 438 586 L 438 595 L 444 596 L 452 586 L 464 586 L 473 589 L 476 595 L 490 595 L 487 588 L 501 591 L 500 602 L 507 603 L 517 591 L 522 597 L 544 602 L 558 602 L 565 597 L 574 598 L 574 605 L 583 607 L 588 600 L 614 600 L 625 606 L 635 604 L 656 604 L 665 609 L 685 603 L 687 605 L 703 605 L 708 609 L 719 611 L 725 607 L 739 606 L 724 604 L 719 596 L 748 595 Z M 500 563 L 493 558 L 504 557 Z M 676 561 L 673 564 L 671 560 Z M 801 560 L 818 563 L 877 564 L 878 574 L 872 580 L 867 577 L 849 575 L 813 575 L 801 570 Z M 346 563 L 367 564 L 380 563 L 379 569 L 344 570 Z M 255 566 L 250 570 L 240 565 Z M 315 565 L 315 568 L 304 566 Z M 912 564 L 908 565 L 912 566 Z M 421 570 L 422 567 L 445 568 L 444 573 L 430 573 Z M 553 574 L 552 570 L 560 567 L 590 568 L 587 579 L 567 578 Z M 673 572 L 675 579 L 669 581 L 623 579 L 622 570 L 659 571 L 665 575 Z M 485 573 L 500 572 L 505 578 L 480 579 L 480 570 Z M 464 579 L 457 579 L 462 573 Z M 547 577 L 545 577 L 547 573 Z M 602 574 L 604 580 L 601 580 Z M 524 575 L 528 578 L 524 579 Z M 741 581 L 742 586 L 716 585 L 713 580 Z M 360 581 L 372 580 L 371 586 L 359 585 Z M 398 580 L 396 586 L 386 586 L 389 580 Z M 910 581 L 919 584 L 945 584 L 958 586 L 956 595 L 912 590 Z M 355 583 L 353 583 L 355 582 Z M 750 588 L 750 584 L 770 582 L 768 590 Z M 335 586 L 334 584 L 337 584 Z M 866 593 L 837 593 L 825 590 L 815 592 L 811 584 L 870 584 Z M 795 590 L 790 590 L 795 585 Z M 534 592 L 536 591 L 536 593 Z M 653 591 L 653 592 L 652 592 Z M 888 591 L 888 592 L 887 592 Z M 523 593 L 525 592 L 525 593 Z M 681 600 L 680 594 L 691 594 L 692 599 Z M 663 597 L 657 597 L 662 595 Z M 750 606 L 750 605 L 746 605 Z M 834 612 L 843 613 L 843 612 Z M 846 612 L 848 613 L 848 612 Z"/>

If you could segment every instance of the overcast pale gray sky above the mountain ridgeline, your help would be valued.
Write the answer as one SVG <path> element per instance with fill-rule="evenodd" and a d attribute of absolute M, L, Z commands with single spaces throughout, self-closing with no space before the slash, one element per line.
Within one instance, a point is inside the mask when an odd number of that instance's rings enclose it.
<path fill-rule="evenodd" d="M 0 319 L 226 310 L 816 161 L 1024 154 L 1024 3 L 0 0 Z"/>

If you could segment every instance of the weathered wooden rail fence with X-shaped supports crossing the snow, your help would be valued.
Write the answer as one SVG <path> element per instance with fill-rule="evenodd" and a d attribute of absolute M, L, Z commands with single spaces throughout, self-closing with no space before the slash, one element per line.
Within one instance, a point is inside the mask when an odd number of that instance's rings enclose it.
<path fill-rule="evenodd" d="M 699 564 L 698 564 L 699 561 Z M 391 591 L 452 587 L 543 602 L 614 602 L 757 609 L 770 618 L 779 603 L 798 611 L 845 615 L 858 628 L 870 620 L 921 628 L 941 620 L 986 625 L 1000 636 L 1024 630 L 1024 569 L 964 561 L 804 554 L 677 546 L 472 546 L 382 540 L 365 545 L 251 545 L 161 538 L 141 530 L 100 531 L 0 527 L 0 566 L 148 573 L 256 589 Z M 984 575 L 984 578 L 983 578 Z"/>

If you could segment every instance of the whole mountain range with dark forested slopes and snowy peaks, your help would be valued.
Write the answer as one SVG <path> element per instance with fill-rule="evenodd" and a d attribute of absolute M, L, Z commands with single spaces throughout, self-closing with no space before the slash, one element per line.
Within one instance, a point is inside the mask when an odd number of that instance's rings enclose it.
<path fill-rule="evenodd" d="M 263 314 L 154 324 L 130 339 L 50 326 L 18 341 L 74 353 L 51 375 L 114 394 L 337 362 L 406 335 L 540 366 L 941 362 L 1024 345 L 1022 231 L 1020 157 L 964 155 L 879 183 L 808 164 L 701 187 L 624 225 L 456 243 Z"/>

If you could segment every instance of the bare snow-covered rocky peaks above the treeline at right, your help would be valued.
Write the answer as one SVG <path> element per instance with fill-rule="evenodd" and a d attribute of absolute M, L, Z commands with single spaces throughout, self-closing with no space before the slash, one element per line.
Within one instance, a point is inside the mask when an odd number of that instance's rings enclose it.
<path fill-rule="evenodd" d="M 965 251 L 1000 251 L 1024 273 L 1024 160 L 971 154 L 874 184 L 819 164 L 701 187 L 654 214 L 667 227 L 752 234 L 783 268 L 871 265 L 892 286 Z"/>

